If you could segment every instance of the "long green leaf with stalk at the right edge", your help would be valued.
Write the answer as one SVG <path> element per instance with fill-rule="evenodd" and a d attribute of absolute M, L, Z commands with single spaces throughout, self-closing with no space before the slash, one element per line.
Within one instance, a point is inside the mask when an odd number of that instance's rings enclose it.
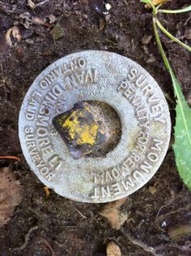
<path fill-rule="evenodd" d="M 175 143 L 172 145 L 176 158 L 176 166 L 183 182 L 191 190 L 191 109 L 185 101 L 185 97 L 180 89 L 180 84 L 176 79 L 163 50 L 155 18 L 153 18 L 153 27 L 159 51 L 163 57 L 163 62 L 171 75 L 172 85 L 176 95 Z"/>

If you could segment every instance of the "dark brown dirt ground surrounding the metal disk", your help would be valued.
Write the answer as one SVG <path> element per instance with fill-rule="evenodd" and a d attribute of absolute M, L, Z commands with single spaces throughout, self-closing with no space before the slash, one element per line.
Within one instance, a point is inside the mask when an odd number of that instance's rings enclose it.
<path fill-rule="evenodd" d="M 180 180 L 172 147 L 151 181 L 126 199 L 122 210 L 129 217 L 117 231 L 99 215 L 104 205 L 73 202 L 53 191 L 46 197 L 44 185 L 23 158 L 18 116 L 25 93 L 50 63 L 79 50 L 108 50 L 141 64 L 163 89 L 172 124 L 175 123 L 172 82 L 155 38 L 142 45 L 142 37 L 153 35 L 151 11 L 139 0 L 108 2 L 112 10 L 101 30 L 100 15 L 85 0 L 49 0 L 34 11 L 25 0 L 0 1 L 0 155 L 21 158 L 20 162 L 1 159 L 0 167 L 11 167 L 23 185 L 22 202 L 10 221 L 0 228 L 2 256 L 104 256 L 111 240 L 120 246 L 124 256 L 191 255 L 191 193 Z M 190 0 L 176 0 L 165 7 L 176 9 L 189 3 Z M 49 26 L 49 15 L 55 15 L 62 27 L 63 35 L 58 40 L 53 40 L 50 33 L 55 23 Z M 191 25 L 189 13 L 159 17 L 169 31 L 190 43 L 190 36 L 186 36 Z M 9 46 L 5 35 L 14 25 L 19 27 L 22 40 Z M 191 88 L 190 54 L 164 36 L 162 41 L 187 95 Z M 154 194 L 149 192 L 151 186 L 155 186 Z M 169 228 L 185 223 L 189 227 L 186 236 L 172 241 Z"/>

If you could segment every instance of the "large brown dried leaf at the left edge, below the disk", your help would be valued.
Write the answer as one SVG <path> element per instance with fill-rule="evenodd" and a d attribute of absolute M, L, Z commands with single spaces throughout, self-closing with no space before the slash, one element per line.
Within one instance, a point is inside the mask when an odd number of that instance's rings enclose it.
<path fill-rule="evenodd" d="M 21 185 L 9 167 L 0 168 L 0 227 L 21 202 Z"/>

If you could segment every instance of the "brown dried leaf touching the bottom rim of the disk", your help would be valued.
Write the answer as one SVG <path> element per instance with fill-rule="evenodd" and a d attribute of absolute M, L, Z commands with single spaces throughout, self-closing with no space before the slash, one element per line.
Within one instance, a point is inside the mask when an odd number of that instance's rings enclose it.
<path fill-rule="evenodd" d="M 100 212 L 100 215 L 104 216 L 104 218 L 108 220 L 108 223 L 110 223 L 113 229 L 117 230 L 121 228 L 123 223 L 125 223 L 125 220 L 128 218 L 128 214 L 123 213 L 120 209 L 125 203 L 125 200 L 126 197 L 117 200 L 116 202 L 110 202 L 104 206 L 104 209 Z"/>

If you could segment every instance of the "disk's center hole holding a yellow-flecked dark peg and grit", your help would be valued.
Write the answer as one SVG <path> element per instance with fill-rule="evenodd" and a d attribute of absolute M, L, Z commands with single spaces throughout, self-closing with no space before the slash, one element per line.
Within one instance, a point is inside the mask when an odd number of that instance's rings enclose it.
<path fill-rule="evenodd" d="M 121 139 L 121 119 L 112 106 L 83 101 L 53 118 L 53 126 L 74 159 L 104 157 Z"/>

